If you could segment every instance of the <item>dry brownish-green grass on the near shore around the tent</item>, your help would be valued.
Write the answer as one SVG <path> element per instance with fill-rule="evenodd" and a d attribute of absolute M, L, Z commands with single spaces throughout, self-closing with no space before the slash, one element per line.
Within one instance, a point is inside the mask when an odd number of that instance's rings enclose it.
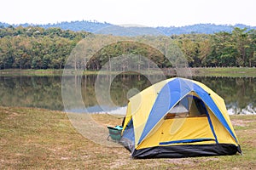
<path fill-rule="evenodd" d="M 122 122 L 109 115 L 92 118 L 103 127 Z M 123 147 L 86 139 L 64 112 L 0 107 L 0 169 L 255 169 L 256 116 L 230 118 L 243 156 L 134 160 Z"/>

